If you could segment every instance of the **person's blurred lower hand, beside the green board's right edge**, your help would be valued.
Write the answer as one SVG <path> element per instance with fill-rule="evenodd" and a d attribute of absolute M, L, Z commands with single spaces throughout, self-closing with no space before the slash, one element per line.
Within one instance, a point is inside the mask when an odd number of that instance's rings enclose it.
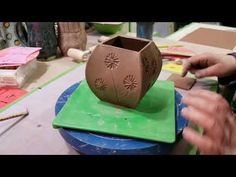
<path fill-rule="evenodd" d="M 228 102 L 219 94 L 198 90 L 183 98 L 182 115 L 203 129 L 203 135 L 190 127 L 183 138 L 201 154 L 236 154 L 236 121 Z"/>

